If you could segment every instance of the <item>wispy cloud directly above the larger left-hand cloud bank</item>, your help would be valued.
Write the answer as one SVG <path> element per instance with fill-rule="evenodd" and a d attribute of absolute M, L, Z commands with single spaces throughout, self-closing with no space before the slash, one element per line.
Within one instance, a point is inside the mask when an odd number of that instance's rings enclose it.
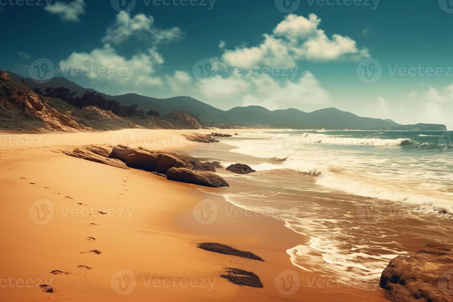
<path fill-rule="evenodd" d="M 106 36 L 102 38 L 104 43 L 120 44 L 133 36 L 150 42 L 159 43 L 171 41 L 181 37 L 182 31 L 178 27 L 172 29 L 157 29 L 154 26 L 153 16 L 136 14 L 131 17 L 129 13 L 120 12 L 116 15 L 116 21 L 107 28 Z"/>

